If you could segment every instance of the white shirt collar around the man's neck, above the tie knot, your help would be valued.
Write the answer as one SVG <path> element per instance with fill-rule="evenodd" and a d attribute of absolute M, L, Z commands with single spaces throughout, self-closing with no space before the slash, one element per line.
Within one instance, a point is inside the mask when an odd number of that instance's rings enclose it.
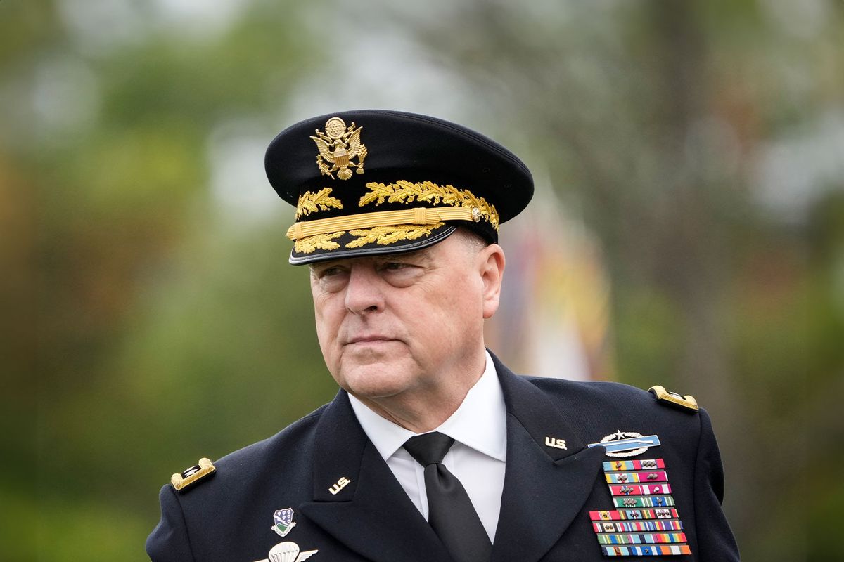
<path fill-rule="evenodd" d="M 472 447 L 484 455 L 504 461 L 507 445 L 507 410 L 504 404 L 504 393 L 501 391 L 492 357 L 489 352 L 485 352 L 485 356 L 484 374 L 469 389 L 466 398 L 463 399 L 463 404 L 460 404 L 457 410 L 435 431 L 440 431 L 456 442 Z M 366 436 L 370 438 L 384 460 L 392 457 L 404 442 L 416 435 L 413 431 L 382 418 L 351 394 L 349 394 L 349 401 L 360 426 L 363 427 Z"/>

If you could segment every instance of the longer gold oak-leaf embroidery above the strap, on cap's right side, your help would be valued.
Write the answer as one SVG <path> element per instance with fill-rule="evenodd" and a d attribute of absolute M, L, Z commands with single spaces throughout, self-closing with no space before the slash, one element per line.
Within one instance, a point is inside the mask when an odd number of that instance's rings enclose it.
<path fill-rule="evenodd" d="M 384 201 L 389 203 L 425 201 L 450 206 L 474 207 L 480 212 L 481 218 L 490 222 L 495 230 L 498 230 L 498 211 L 495 211 L 495 205 L 490 205 L 483 197 L 477 197 L 469 190 L 458 190 L 453 185 L 436 185 L 430 181 L 414 184 L 404 179 L 399 179 L 394 184 L 370 182 L 366 184 L 366 187 L 370 192 L 360 198 L 358 206 L 366 206 L 372 202 L 378 206 Z"/>

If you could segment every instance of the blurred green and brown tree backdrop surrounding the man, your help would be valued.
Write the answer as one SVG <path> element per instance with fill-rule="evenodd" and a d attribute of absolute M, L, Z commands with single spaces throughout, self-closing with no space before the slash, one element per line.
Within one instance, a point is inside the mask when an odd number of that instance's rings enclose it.
<path fill-rule="evenodd" d="M 841 29 L 836 0 L 0 1 L 0 559 L 145 559 L 171 473 L 332 398 L 262 151 L 356 107 L 520 154 L 607 271 L 592 375 L 710 410 L 744 559 L 841 559 Z"/>

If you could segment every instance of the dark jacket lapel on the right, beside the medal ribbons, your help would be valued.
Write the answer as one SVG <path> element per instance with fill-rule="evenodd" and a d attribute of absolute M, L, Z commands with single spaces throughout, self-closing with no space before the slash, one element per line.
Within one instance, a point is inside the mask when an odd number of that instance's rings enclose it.
<path fill-rule="evenodd" d="M 507 464 L 493 562 L 541 559 L 581 511 L 603 460 L 533 383 L 493 356 L 507 407 Z M 565 441 L 565 449 L 545 444 Z M 556 443 L 556 441 L 555 441 Z"/>

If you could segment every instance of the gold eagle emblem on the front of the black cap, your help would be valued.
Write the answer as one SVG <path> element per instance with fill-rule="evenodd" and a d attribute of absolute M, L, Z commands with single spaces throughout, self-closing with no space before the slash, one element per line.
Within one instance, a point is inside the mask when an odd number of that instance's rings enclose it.
<path fill-rule="evenodd" d="M 317 136 L 311 136 L 317 143 L 319 154 L 317 154 L 317 166 L 322 175 L 334 179 L 334 172 L 337 172 L 339 179 L 352 177 L 352 170 L 358 174 L 364 173 L 364 158 L 366 158 L 366 147 L 360 142 L 360 131 L 362 126 L 355 127 L 354 121 L 348 127 L 344 120 L 339 117 L 332 117 L 325 122 L 325 132 L 317 129 Z M 354 162 L 357 158 L 357 162 Z"/>

